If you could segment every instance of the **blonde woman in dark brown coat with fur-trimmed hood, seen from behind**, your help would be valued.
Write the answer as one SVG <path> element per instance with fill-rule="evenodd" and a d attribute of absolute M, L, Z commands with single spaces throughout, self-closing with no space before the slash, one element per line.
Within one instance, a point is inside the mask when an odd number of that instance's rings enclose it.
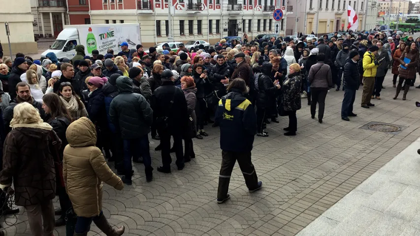
<path fill-rule="evenodd" d="M 53 236 L 56 196 L 54 162 L 61 140 L 53 128 L 44 123 L 39 112 L 27 102 L 13 109 L 12 131 L 4 141 L 1 189 L 13 181 L 15 204 L 25 207 L 31 233 L 34 236 Z"/>

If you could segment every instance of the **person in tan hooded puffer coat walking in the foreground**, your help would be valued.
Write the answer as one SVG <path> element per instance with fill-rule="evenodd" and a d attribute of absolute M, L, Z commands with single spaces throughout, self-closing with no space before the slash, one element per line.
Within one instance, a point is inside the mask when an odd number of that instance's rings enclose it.
<path fill-rule="evenodd" d="M 113 229 L 102 212 L 102 181 L 118 190 L 124 184 L 95 147 L 95 125 L 88 118 L 79 118 L 68 126 L 65 137 L 68 145 L 64 149 L 63 177 L 77 215 L 74 235 L 87 236 L 92 221 L 107 236 L 124 234 L 124 226 Z"/>

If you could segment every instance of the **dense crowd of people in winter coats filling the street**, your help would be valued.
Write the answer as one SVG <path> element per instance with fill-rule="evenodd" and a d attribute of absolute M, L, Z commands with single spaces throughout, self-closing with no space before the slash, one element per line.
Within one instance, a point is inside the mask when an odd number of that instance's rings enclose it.
<path fill-rule="evenodd" d="M 13 182 L 15 204 L 28 212 L 33 235 L 51 235 L 71 212 L 77 216 L 75 235 L 86 236 L 92 222 L 106 235 L 122 235 L 124 227 L 113 229 L 103 215 L 102 181 L 119 190 L 131 185 L 132 162 L 143 163 L 146 181 L 153 181 L 149 133 L 160 142 L 157 171 L 171 173 L 171 152 L 183 170 L 195 158 L 193 139 L 209 136 L 205 126 L 211 124 L 221 132 L 217 202 L 223 203 L 236 160 L 249 191 L 261 188 L 251 161 L 254 136 L 267 137 L 267 125 L 279 123 L 279 116 L 289 118 L 284 135 L 296 135 L 302 98 L 311 118 L 318 104 L 322 123 L 328 90 L 342 87 L 341 117 L 350 120 L 359 86 L 361 107 L 373 107 L 392 68 L 393 99 L 403 90 L 405 100 L 420 68 L 419 44 L 420 37 L 414 41 L 396 32 L 390 37 L 349 32 L 331 40 L 302 37 L 297 43 L 281 37 L 244 45 L 222 39 L 214 47 L 180 44 L 177 51 L 164 44 L 148 53 L 142 45 L 129 49 L 122 43 L 116 55 L 112 50 L 85 55 L 84 46 L 77 45 L 71 60 L 54 53 L 42 61 L 21 53 L 14 60 L 4 57 L 1 189 L 7 192 Z M 54 211 L 56 195 L 61 208 Z M 56 221 L 55 214 L 61 215 Z"/>

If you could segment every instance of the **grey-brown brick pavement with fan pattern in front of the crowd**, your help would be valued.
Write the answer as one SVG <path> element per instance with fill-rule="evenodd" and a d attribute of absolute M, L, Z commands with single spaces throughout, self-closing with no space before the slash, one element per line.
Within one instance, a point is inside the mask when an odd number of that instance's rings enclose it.
<path fill-rule="evenodd" d="M 361 91 L 357 91 L 354 112 L 358 116 L 350 122 L 340 116 L 343 91 L 331 90 L 322 124 L 311 119 L 303 100 L 297 112 L 297 136 L 283 135 L 287 118 L 267 125 L 270 136 L 256 137 L 253 150 L 253 163 L 263 182 L 256 193 L 247 191 L 236 166 L 230 182 L 231 199 L 216 204 L 219 130 L 207 128 L 210 136 L 194 140 L 196 158 L 184 170 L 172 167 L 172 174 L 155 171 L 154 181 L 146 183 L 144 168 L 137 164 L 132 186 L 124 191 L 105 186 L 104 213 L 112 224 L 125 225 L 128 236 L 295 235 L 420 136 L 420 109 L 414 104 L 420 89 L 412 87 L 406 101 L 401 100 L 402 94 L 392 100 L 395 89 L 389 72 L 384 82 L 387 88 L 382 100 L 373 100 L 374 108 L 360 108 Z M 398 135 L 359 129 L 370 121 L 407 128 Z M 156 146 L 152 141 L 151 148 Z M 161 158 L 159 153 L 151 153 L 156 169 Z M 7 218 L 7 222 L 16 219 Z M 65 235 L 64 227 L 56 230 L 56 236 Z M 23 210 L 6 232 L 30 235 Z M 89 235 L 97 232 L 93 225 Z"/>

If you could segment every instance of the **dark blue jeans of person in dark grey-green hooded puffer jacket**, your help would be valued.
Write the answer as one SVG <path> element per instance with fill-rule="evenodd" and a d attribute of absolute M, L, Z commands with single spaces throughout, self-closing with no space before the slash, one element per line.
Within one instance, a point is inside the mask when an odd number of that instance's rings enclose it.
<path fill-rule="evenodd" d="M 124 143 L 124 171 L 126 173 L 126 178 L 131 178 L 132 172 L 132 163 L 131 159 L 143 157 L 143 164 L 145 170 L 151 169 L 152 159 L 150 157 L 149 150 L 149 137 L 143 135 L 137 139 L 125 139 Z"/>

